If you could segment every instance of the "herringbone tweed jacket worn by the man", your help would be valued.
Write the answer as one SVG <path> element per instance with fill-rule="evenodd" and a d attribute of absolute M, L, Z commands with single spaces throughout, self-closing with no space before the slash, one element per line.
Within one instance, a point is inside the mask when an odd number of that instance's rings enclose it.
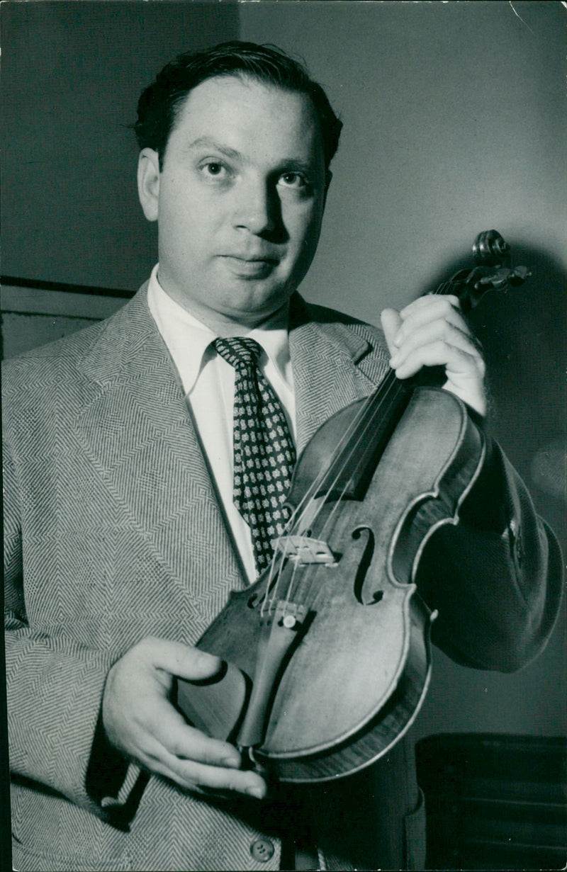
<path fill-rule="evenodd" d="M 298 297 L 293 311 L 301 450 L 388 364 L 378 330 Z M 183 793 L 101 737 L 110 666 L 148 635 L 195 644 L 245 584 L 146 287 L 106 322 L 9 361 L 3 413 L 15 867 L 278 869 L 278 837 L 301 828 L 311 802 L 323 865 L 420 868 L 423 807 L 404 741 L 342 793 L 270 805 Z M 508 670 L 549 636 L 561 570 L 522 482 L 498 446 L 488 457 L 470 516 L 434 537 L 420 584 L 451 656 Z M 251 851 L 263 838 L 268 859 Z"/>

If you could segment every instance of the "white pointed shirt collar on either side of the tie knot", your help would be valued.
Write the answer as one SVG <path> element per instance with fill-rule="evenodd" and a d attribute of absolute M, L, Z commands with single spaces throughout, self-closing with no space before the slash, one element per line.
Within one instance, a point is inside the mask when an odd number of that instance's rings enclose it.
<path fill-rule="evenodd" d="M 188 393 L 212 354 L 207 350 L 217 334 L 163 290 L 158 279 L 158 268 L 159 263 L 156 263 L 147 288 L 147 303 Z M 292 388 L 287 313 L 278 312 L 262 327 L 255 327 L 246 335 L 262 345 L 283 381 Z"/>

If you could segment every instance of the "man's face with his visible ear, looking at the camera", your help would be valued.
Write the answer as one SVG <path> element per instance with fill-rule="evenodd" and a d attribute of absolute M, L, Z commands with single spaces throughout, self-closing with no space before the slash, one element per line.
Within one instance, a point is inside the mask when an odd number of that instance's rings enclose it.
<path fill-rule="evenodd" d="M 309 269 L 323 217 L 311 100 L 251 78 L 210 78 L 188 94 L 157 167 L 144 149 L 140 199 L 158 220 L 164 290 L 217 328 L 281 308 Z"/>

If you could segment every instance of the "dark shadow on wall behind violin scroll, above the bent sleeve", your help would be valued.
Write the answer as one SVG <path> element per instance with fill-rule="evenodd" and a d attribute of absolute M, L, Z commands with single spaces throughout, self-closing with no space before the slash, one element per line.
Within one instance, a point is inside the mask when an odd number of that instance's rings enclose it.
<path fill-rule="evenodd" d="M 520 287 L 489 291 L 468 316 L 482 343 L 491 395 L 491 433 L 529 485 L 536 508 L 566 549 L 565 290 L 561 263 L 543 249 L 515 244 L 512 266 L 531 272 Z M 432 287 L 458 269 L 440 270 Z"/>

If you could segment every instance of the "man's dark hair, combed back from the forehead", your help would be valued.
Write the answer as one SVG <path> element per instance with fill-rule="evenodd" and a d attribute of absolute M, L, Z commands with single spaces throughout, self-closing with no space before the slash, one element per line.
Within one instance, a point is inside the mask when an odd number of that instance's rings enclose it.
<path fill-rule="evenodd" d="M 208 78 L 246 75 L 276 85 L 285 91 L 311 98 L 321 128 L 325 168 L 338 147 L 342 122 L 332 111 L 321 85 L 313 82 L 305 67 L 275 45 L 257 45 L 236 40 L 205 51 L 185 51 L 158 73 L 138 101 L 138 119 L 133 125 L 138 145 L 159 154 L 160 168 L 177 112 L 188 93 Z"/>

